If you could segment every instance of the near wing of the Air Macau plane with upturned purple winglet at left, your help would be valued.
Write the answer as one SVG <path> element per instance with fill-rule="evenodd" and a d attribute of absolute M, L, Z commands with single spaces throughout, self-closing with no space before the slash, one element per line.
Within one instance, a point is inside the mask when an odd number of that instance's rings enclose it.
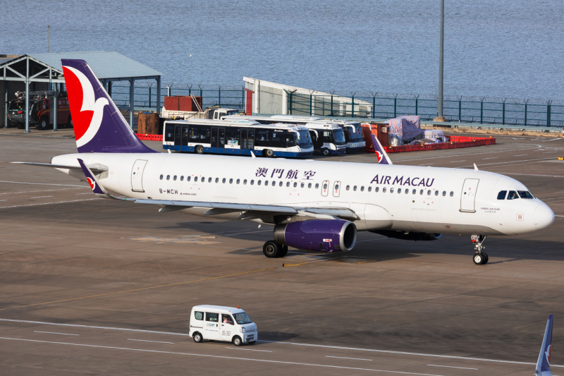
<path fill-rule="evenodd" d="M 341 218 L 356 220 L 359 219 L 353 210 L 341 207 L 302 207 L 302 206 L 282 206 L 282 205 L 257 205 L 239 204 L 231 202 L 204 202 L 204 201 L 184 201 L 184 200 L 152 200 L 141 198 L 117 198 L 108 193 L 99 183 L 98 179 L 90 168 L 84 164 L 82 159 L 78 163 L 84 172 L 90 188 L 94 194 L 101 198 L 114 198 L 116 200 L 133 201 L 138 204 L 160 205 L 159 212 L 174 212 L 191 207 L 209 208 L 204 215 L 219 215 L 240 212 L 238 219 L 261 219 L 262 222 L 274 223 L 275 216 L 299 216 L 304 219 L 315 218 Z"/>

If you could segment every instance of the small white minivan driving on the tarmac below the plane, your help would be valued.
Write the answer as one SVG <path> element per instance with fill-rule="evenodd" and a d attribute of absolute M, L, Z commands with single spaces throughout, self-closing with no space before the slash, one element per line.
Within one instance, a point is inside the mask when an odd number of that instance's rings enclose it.
<path fill-rule="evenodd" d="M 244 310 L 221 305 L 195 305 L 190 315 L 190 336 L 195 342 L 204 339 L 230 341 L 235 346 L 254 344 L 257 325 Z"/>

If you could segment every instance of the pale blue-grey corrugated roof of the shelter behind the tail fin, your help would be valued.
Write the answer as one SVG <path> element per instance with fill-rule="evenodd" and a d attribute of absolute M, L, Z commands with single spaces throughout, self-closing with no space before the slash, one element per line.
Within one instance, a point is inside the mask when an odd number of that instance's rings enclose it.
<path fill-rule="evenodd" d="M 130 77 L 155 78 L 162 75 L 159 71 L 155 71 L 153 68 L 149 68 L 116 51 L 54 52 L 50 54 L 29 54 L 28 56 L 61 71 L 63 70 L 61 59 L 82 59 L 88 63 L 100 80 L 109 78 L 117 80 Z"/>

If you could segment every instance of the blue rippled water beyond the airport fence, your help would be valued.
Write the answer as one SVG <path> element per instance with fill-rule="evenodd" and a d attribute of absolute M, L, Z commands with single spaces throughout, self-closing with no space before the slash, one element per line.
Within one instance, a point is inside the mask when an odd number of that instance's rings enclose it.
<path fill-rule="evenodd" d="M 6 1 L 0 54 L 118 51 L 164 83 L 436 94 L 440 0 Z M 446 94 L 564 99 L 564 2 L 446 0 Z"/>

